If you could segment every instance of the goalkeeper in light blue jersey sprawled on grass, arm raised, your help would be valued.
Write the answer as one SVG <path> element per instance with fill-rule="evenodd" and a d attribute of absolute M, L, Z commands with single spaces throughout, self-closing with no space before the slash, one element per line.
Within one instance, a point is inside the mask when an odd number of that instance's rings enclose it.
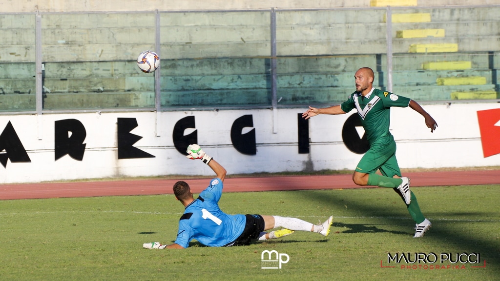
<path fill-rule="evenodd" d="M 187 248 L 192 239 L 212 246 L 248 245 L 252 240 L 267 240 L 280 238 L 293 233 L 295 230 L 317 232 L 328 235 L 333 217 L 325 222 L 314 225 L 294 217 L 259 214 L 226 214 L 220 210 L 218 200 L 222 195 L 222 182 L 226 170 L 212 157 L 208 156 L 197 144 L 190 144 L 186 151 L 189 159 L 201 159 L 216 174 L 210 180 L 208 187 L 201 191 L 194 199 L 189 185 L 184 181 L 177 181 L 173 185 L 175 198 L 185 207 L 184 214 L 179 220 L 177 238 L 173 244 L 162 245 L 159 242 L 144 243 L 148 249 Z M 278 230 L 266 230 L 283 227 Z"/>

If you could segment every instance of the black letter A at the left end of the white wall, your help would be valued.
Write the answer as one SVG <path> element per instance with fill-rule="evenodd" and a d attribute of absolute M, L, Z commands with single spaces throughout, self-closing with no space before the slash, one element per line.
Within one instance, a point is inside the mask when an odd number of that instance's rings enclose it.
<path fill-rule="evenodd" d="M 11 162 L 31 162 L 10 121 L 0 134 L 0 162 L 4 168 L 7 167 L 7 159 Z"/>

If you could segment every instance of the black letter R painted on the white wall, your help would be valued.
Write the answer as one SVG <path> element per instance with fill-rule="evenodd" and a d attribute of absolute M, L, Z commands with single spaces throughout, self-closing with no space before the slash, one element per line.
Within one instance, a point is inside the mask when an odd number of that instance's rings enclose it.
<path fill-rule="evenodd" d="M 71 132 L 71 133 L 69 133 Z M 83 124 L 76 119 L 63 119 L 54 122 L 54 157 L 55 160 L 68 154 L 76 160 L 83 159 L 86 144 L 83 143 L 87 132 Z"/>

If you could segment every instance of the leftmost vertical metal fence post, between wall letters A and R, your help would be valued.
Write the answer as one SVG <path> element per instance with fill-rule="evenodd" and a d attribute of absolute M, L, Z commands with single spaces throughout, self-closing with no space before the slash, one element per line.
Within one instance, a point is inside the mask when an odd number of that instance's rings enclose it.
<path fill-rule="evenodd" d="M 37 127 L 38 127 L 38 139 L 42 138 L 43 126 L 42 126 L 42 107 L 43 107 L 43 89 L 42 89 L 42 77 L 41 77 L 41 67 L 42 67 L 42 54 L 41 54 L 41 15 L 38 10 L 34 15 L 34 41 L 35 41 L 35 103 L 36 103 L 36 115 L 37 115 Z"/>

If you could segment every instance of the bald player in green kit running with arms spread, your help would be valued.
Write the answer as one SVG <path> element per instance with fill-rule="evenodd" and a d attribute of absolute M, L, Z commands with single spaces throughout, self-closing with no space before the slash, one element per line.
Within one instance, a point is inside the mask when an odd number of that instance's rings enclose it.
<path fill-rule="evenodd" d="M 352 174 L 352 180 L 357 185 L 394 188 L 394 191 L 403 198 L 408 212 L 416 223 L 413 237 L 422 237 L 431 223 L 423 216 L 415 194 L 409 190 L 409 178 L 401 177 L 395 156 L 396 143 L 389 132 L 390 107 L 409 106 L 425 118 L 425 125 L 430 128 L 430 132 L 436 129 L 437 123 L 416 101 L 373 88 L 374 74 L 371 68 L 359 68 L 354 78 L 356 91 L 346 101 L 326 108 L 309 106 L 302 117 L 308 119 L 317 114 L 345 114 L 355 108 L 365 130 L 369 149 L 359 160 Z M 380 170 L 382 175 L 376 174 L 377 170 Z"/>

